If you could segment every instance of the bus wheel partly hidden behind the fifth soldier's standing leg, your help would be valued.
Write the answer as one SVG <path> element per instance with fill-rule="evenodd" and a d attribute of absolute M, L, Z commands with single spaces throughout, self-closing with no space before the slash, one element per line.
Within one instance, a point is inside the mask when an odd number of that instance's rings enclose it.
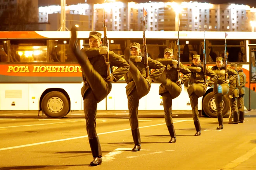
<path fill-rule="evenodd" d="M 203 101 L 202 101 L 202 109 L 204 110 L 204 113 L 209 117 L 217 117 L 216 112 L 216 104 L 214 99 L 214 93 L 210 92 L 208 93 Z M 229 111 L 229 101 L 226 96 L 223 96 L 222 99 L 222 115 L 223 117 L 228 113 Z"/>

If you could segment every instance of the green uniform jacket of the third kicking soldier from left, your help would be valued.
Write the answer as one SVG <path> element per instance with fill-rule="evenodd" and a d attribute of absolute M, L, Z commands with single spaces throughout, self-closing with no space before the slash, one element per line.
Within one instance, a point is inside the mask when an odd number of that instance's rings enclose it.
<path fill-rule="evenodd" d="M 178 80 L 178 71 L 177 66 L 172 64 L 172 59 L 157 58 L 156 60 L 164 65 L 164 72 L 161 76 L 164 76 L 164 78 L 169 78 L 172 82 L 176 82 Z M 180 73 L 183 73 L 183 76 L 180 78 L 181 84 L 177 83 L 177 85 L 179 85 L 181 88 L 181 85 L 189 80 L 191 71 L 189 71 L 186 66 L 180 63 Z M 163 84 L 161 84 L 159 87 L 159 94 L 163 94 L 165 92 L 168 92 L 168 90 L 164 87 Z"/>

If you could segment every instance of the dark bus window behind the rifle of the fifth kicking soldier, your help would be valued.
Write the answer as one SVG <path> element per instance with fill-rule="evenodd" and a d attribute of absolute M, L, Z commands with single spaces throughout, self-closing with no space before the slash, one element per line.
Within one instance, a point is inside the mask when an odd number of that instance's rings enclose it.
<path fill-rule="evenodd" d="M 225 40 L 209 40 L 209 55 L 216 61 L 216 57 L 224 57 Z M 246 62 L 245 42 L 242 40 L 227 40 L 227 61 Z"/>

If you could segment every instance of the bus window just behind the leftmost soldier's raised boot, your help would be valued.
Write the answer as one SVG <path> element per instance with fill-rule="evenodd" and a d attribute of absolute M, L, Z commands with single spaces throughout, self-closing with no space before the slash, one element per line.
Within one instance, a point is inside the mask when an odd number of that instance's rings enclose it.
<path fill-rule="evenodd" d="M 50 62 L 77 62 L 69 51 L 69 39 L 48 40 Z"/>

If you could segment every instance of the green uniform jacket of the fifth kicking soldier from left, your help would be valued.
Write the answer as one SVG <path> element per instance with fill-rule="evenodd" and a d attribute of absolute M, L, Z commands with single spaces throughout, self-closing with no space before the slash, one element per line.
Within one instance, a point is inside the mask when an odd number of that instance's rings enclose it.
<path fill-rule="evenodd" d="M 213 66 L 211 68 L 211 70 L 213 70 L 216 75 L 218 76 L 217 80 L 214 82 L 214 86 L 217 85 L 217 84 L 223 84 L 225 81 L 226 81 L 226 78 L 225 78 L 225 66 L 222 65 L 220 68 L 218 68 L 216 65 Z M 227 68 L 227 72 L 228 72 L 228 79 L 230 81 L 230 88 L 229 88 L 229 92 L 228 92 L 228 95 L 234 95 L 234 89 L 236 87 L 236 80 L 237 80 L 237 72 L 235 70 L 232 70 L 230 68 Z"/>

